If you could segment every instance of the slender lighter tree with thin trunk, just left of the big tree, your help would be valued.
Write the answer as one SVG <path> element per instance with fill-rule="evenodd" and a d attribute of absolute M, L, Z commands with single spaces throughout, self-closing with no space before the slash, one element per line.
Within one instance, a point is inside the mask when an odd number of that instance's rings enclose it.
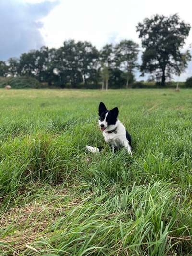
<path fill-rule="evenodd" d="M 122 69 L 126 75 L 126 88 L 133 77 L 134 69 L 138 67 L 138 48 L 139 45 L 132 40 L 123 40 L 115 47 L 116 67 Z"/>

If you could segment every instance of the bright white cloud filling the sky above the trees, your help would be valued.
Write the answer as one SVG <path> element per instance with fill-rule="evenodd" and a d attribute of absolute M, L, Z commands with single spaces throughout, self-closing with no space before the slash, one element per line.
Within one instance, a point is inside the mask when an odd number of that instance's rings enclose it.
<path fill-rule="evenodd" d="M 49 46 L 60 46 L 69 38 L 88 40 L 97 47 L 128 38 L 140 42 L 136 25 L 153 14 L 178 13 L 191 22 L 189 0 L 61 0 L 43 21 L 42 33 Z M 187 44 L 192 42 L 192 32 Z"/>

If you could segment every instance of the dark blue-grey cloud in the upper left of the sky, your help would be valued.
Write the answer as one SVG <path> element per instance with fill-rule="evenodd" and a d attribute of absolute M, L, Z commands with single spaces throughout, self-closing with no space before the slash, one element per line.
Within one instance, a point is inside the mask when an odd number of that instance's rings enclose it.
<path fill-rule="evenodd" d="M 41 19 L 59 3 L 44 1 L 26 3 L 24 0 L 0 0 L 0 60 L 18 57 L 45 44 L 39 29 Z"/>

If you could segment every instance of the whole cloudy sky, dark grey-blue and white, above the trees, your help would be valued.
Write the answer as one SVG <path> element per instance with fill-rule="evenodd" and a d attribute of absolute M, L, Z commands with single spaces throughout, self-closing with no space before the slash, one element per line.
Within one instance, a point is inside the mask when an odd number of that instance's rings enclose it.
<path fill-rule="evenodd" d="M 132 39 L 136 25 L 154 14 L 171 15 L 192 26 L 191 0 L 0 0 L 0 60 L 42 45 L 60 47 L 68 39 L 106 43 Z M 185 49 L 192 44 L 192 29 Z M 192 49 L 191 49 L 192 51 Z M 192 61 L 179 80 L 192 76 Z"/>

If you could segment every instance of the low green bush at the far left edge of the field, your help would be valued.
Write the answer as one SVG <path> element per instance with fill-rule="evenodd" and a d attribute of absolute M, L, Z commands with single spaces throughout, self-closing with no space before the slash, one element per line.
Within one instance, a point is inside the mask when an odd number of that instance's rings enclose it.
<path fill-rule="evenodd" d="M 10 85 L 13 89 L 24 89 L 24 88 L 42 88 L 44 86 L 33 77 L 1 77 L 0 88 L 4 88 L 6 85 Z"/>

